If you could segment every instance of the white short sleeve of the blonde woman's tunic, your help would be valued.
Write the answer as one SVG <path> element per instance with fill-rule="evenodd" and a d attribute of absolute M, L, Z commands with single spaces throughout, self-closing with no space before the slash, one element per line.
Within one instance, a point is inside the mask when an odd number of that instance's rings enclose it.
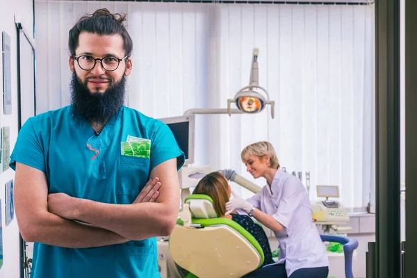
<path fill-rule="evenodd" d="M 286 179 L 282 186 L 282 195 L 281 199 L 279 199 L 277 212 L 272 216 L 284 227 L 288 227 L 294 214 L 300 207 L 304 194 L 300 191 L 300 186 L 297 184 L 297 181 Z M 301 188 L 303 187 L 301 186 Z"/>

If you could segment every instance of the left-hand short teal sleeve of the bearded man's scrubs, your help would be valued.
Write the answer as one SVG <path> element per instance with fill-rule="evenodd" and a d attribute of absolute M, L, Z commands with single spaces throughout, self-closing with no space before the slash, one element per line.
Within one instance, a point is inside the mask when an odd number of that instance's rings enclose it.
<path fill-rule="evenodd" d="M 33 118 L 29 118 L 20 129 L 9 165 L 16 170 L 16 162 L 19 162 L 45 172 L 44 147 L 32 121 Z"/>

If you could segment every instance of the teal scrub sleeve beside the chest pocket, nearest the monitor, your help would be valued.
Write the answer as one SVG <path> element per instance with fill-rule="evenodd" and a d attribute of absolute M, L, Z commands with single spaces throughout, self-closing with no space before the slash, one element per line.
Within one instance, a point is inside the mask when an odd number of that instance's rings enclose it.
<path fill-rule="evenodd" d="M 159 122 L 159 127 L 151 139 L 150 170 L 153 170 L 157 165 L 172 158 L 177 158 L 177 170 L 181 169 L 186 160 L 186 156 L 179 149 L 170 128 L 166 124 Z"/>

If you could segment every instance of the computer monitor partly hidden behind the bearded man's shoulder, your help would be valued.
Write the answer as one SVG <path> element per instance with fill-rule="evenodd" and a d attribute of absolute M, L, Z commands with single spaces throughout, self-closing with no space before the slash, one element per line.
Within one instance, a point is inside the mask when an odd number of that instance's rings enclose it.
<path fill-rule="evenodd" d="M 186 155 L 184 165 L 194 163 L 194 115 L 165 117 L 161 120 L 167 124 L 174 135 L 175 140 L 181 151 Z"/>

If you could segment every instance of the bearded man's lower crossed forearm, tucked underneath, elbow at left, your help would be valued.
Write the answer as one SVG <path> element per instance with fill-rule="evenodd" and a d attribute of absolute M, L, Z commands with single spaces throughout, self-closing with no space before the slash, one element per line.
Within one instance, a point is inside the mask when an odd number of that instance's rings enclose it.
<path fill-rule="evenodd" d="M 22 232 L 24 239 L 29 242 L 35 241 L 67 248 L 85 248 L 129 241 L 113 231 L 78 224 L 52 213 L 44 212 L 34 216 L 35 220 L 26 224 L 26 232 Z"/>

